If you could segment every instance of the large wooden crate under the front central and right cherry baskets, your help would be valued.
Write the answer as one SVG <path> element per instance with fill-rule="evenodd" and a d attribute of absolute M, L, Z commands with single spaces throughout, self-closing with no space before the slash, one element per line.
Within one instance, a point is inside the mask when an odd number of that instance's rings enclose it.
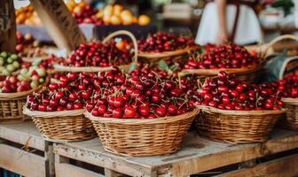
<path fill-rule="evenodd" d="M 287 150 L 292 151 L 281 158 L 255 163 L 257 158 L 269 157 Z M 108 153 L 103 150 L 98 138 L 85 142 L 54 143 L 57 177 L 104 175 L 71 164 L 70 160 L 105 168 L 106 176 L 119 176 L 120 173 L 130 176 L 179 177 L 198 173 L 199 176 L 297 176 L 297 152 L 298 133 L 283 129 L 275 129 L 267 142 L 242 145 L 212 142 L 192 132 L 186 135 L 183 147 L 177 153 L 147 158 L 121 157 Z M 226 170 L 230 165 L 241 168 Z M 214 170 L 220 167 L 225 170 Z"/>

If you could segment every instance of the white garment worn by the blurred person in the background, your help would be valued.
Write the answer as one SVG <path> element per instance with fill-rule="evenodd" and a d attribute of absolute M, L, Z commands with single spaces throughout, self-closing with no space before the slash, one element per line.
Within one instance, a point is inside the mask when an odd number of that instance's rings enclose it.
<path fill-rule="evenodd" d="M 231 35 L 236 17 L 237 7 L 227 4 L 226 21 L 227 30 Z M 200 45 L 206 43 L 218 43 L 219 18 L 216 3 L 208 3 L 200 20 L 200 27 L 195 42 Z M 252 8 L 247 5 L 240 5 L 239 21 L 234 42 L 243 45 L 252 42 L 263 41 L 262 29 Z"/>

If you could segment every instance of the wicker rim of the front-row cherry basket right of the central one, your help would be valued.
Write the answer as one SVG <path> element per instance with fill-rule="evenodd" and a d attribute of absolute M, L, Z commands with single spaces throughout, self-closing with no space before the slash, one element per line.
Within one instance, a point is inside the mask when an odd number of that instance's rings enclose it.
<path fill-rule="evenodd" d="M 218 108 L 214 108 L 211 106 L 206 105 L 196 105 L 198 109 L 202 112 L 209 112 L 209 113 L 220 113 L 224 115 L 251 115 L 251 116 L 261 116 L 261 115 L 269 115 L 269 114 L 281 114 L 284 113 L 286 110 L 263 110 L 263 111 L 234 111 L 234 110 L 221 110 Z"/>

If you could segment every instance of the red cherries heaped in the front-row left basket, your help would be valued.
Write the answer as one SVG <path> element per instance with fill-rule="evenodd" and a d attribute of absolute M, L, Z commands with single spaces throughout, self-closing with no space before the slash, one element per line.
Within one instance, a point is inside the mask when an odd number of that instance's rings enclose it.
<path fill-rule="evenodd" d="M 27 96 L 27 108 L 32 111 L 55 112 L 84 107 L 96 85 L 95 73 L 56 73 L 46 89 Z"/>

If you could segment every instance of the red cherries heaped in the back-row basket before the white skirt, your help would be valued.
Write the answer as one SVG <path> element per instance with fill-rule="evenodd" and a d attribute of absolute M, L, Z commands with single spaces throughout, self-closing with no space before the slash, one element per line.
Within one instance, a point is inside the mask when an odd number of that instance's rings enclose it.
<path fill-rule="evenodd" d="M 184 69 L 242 68 L 259 62 L 259 58 L 236 44 L 208 45 L 202 55 L 188 58 Z"/>

